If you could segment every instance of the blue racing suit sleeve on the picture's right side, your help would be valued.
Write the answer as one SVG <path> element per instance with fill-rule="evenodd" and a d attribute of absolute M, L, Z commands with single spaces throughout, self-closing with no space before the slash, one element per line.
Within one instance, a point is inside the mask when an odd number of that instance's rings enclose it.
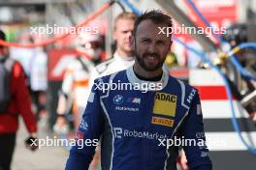
<path fill-rule="evenodd" d="M 186 140 L 188 139 L 187 141 L 194 141 L 186 142 L 186 146 L 183 146 L 189 169 L 211 170 L 212 165 L 208 157 L 201 102 L 197 92 L 184 121 L 181 135 Z"/>

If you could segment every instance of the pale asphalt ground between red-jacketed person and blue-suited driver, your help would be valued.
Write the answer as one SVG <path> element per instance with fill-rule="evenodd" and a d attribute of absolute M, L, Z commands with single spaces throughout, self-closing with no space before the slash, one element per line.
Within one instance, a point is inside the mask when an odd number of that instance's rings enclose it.
<path fill-rule="evenodd" d="M 64 147 L 45 146 L 32 152 L 24 145 L 28 133 L 20 120 L 16 136 L 16 149 L 12 162 L 12 170 L 63 170 L 69 155 Z M 52 134 L 39 126 L 39 138 L 46 139 Z"/>

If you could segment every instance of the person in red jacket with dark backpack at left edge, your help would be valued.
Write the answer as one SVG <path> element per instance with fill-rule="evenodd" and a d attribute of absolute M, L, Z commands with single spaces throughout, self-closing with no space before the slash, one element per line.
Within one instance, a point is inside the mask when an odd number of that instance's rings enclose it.
<path fill-rule="evenodd" d="M 0 40 L 6 41 L 0 31 Z M 9 57 L 9 49 L 0 46 L 0 169 L 10 170 L 16 146 L 18 116 L 21 115 L 29 132 L 26 146 L 37 138 L 36 118 L 31 110 L 31 100 L 26 85 L 26 76 L 21 65 Z"/>

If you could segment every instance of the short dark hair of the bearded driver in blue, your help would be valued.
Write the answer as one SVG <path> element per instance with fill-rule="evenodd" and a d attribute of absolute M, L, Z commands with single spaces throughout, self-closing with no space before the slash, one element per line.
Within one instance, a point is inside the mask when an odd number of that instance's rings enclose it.
<path fill-rule="evenodd" d="M 134 23 L 134 36 L 140 23 L 144 20 L 151 20 L 155 24 L 166 24 L 168 27 L 173 27 L 172 17 L 168 14 L 164 14 L 160 10 L 145 11 L 140 15 Z"/>

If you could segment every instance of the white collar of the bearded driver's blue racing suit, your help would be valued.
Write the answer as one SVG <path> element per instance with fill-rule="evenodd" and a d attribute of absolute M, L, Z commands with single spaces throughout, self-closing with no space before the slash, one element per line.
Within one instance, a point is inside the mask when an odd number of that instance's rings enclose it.
<path fill-rule="evenodd" d="M 148 89 L 148 91 L 158 91 L 158 90 L 162 90 L 166 87 L 167 83 L 168 83 L 168 79 L 169 79 L 169 73 L 165 70 L 163 70 L 163 75 L 160 81 L 145 81 L 145 80 L 141 80 L 140 78 L 138 78 L 133 70 L 133 66 L 129 67 L 126 70 L 126 75 L 127 78 L 129 80 L 130 83 L 132 84 L 140 84 L 142 87 L 144 86 L 144 84 L 155 84 L 157 87 L 159 87 L 159 84 L 161 83 L 161 88 L 157 88 L 157 89 Z"/>

